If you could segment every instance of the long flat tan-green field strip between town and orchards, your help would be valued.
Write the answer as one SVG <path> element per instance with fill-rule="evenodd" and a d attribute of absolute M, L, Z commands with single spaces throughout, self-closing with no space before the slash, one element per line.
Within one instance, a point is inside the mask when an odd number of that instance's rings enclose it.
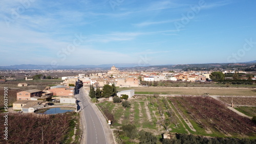
<path fill-rule="evenodd" d="M 135 89 L 138 94 L 158 93 L 158 94 L 180 94 L 180 95 L 256 95 L 256 89 L 253 88 L 189 88 L 189 87 L 131 87 L 117 88 L 118 91 Z M 150 94 L 151 94 L 150 93 Z"/>

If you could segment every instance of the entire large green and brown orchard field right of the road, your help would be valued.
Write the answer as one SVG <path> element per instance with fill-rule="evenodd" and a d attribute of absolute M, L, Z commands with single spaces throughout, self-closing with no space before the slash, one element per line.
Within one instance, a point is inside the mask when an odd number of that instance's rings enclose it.
<path fill-rule="evenodd" d="M 138 130 L 152 132 L 158 138 L 167 130 L 213 137 L 256 136 L 256 131 L 252 128 L 256 125 L 250 119 L 234 113 L 220 101 L 209 97 L 168 98 L 140 95 L 129 101 L 129 108 L 109 101 L 97 104 L 103 113 L 108 113 L 106 115 L 112 113 L 112 129 L 119 130 L 125 124 L 133 124 Z M 129 138 L 121 138 L 129 142 Z"/>

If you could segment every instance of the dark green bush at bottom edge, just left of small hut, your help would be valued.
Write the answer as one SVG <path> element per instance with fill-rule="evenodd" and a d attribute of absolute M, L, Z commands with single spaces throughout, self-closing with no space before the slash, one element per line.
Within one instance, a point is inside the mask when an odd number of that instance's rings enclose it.
<path fill-rule="evenodd" d="M 143 143 L 143 144 L 157 143 L 157 137 L 154 136 L 151 132 L 146 132 L 144 130 L 140 130 L 139 136 L 140 136 L 140 138 L 139 138 L 140 143 Z"/>

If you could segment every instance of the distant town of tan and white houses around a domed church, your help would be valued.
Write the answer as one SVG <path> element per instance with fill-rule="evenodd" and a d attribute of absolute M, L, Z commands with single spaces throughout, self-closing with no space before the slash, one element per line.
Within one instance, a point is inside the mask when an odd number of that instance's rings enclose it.
<path fill-rule="evenodd" d="M 210 79 L 209 72 L 195 72 L 189 73 L 147 73 L 147 72 L 126 72 L 119 71 L 118 68 L 112 66 L 107 73 L 97 73 L 91 76 L 79 74 L 78 76 L 62 77 L 64 80 L 62 84 L 74 84 L 78 79 L 82 81 L 83 85 L 93 85 L 95 87 L 103 87 L 105 84 L 115 84 L 118 87 L 139 87 L 140 81 L 206 81 Z"/>

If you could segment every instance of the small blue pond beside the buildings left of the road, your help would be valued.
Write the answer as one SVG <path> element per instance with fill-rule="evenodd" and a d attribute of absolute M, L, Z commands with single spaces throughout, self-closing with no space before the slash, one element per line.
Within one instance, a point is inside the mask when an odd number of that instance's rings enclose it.
<path fill-rule="evenodd" d="M 71 107 L 53 107 L 53 108 L 46 108 L 46 109 L 40 109 L 35 111 L 37 114 L 57 114 L 57 113 L 65 113 L 69 111 L 75 111 L 75 108 Z"/>

